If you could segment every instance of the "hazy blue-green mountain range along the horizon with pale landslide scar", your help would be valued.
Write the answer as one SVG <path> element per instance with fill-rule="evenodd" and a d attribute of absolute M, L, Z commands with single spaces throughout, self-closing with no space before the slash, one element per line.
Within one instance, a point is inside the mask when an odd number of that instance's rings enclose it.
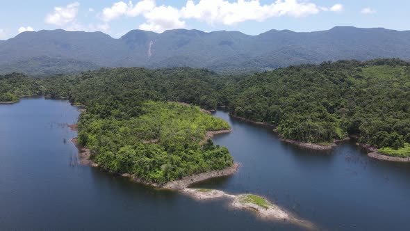
<path fill-rule="evenodd" d="M 410 60 L 410 31 L 336 26 L 329 31 L 271 30 L 205 33 L 177 29 L 134 30 L 122 38 L 101 32 L 24 32 L 0 41 L 0 74 L 32 76 L 74 73 L 99 67 L 206 67 L 216 72 L 257 72 L 340 59 Z"/>

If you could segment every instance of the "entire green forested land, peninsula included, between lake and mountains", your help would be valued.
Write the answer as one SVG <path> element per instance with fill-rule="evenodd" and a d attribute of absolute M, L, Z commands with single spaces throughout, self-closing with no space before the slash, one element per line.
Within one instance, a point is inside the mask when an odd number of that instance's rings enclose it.
<path fill-rule="evenodd" d="M 92 159 L 162 184 L 232 166 L 226 148 L 201 142 L 206 132 L 229 129 L 200 111 L 218 106 L 272 125 L 284 140 L 326 146 L 355 136 L 379 154 L 409 157 L 409 77 L 410 63 L 400 59 L 242 75 L 188 67 L 103 68 L 44 79 L 8 74 L 0 77 L 0 97 L 15 102 L 22 95 L 45 95 L 85 105 L 79 143 Z"/>

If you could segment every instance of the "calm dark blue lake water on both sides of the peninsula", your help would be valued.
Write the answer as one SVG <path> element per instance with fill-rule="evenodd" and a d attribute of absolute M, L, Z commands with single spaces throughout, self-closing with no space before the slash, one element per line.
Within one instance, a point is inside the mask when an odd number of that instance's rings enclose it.
<path fill-rule="evenodd" d="M 214 115 L 233 127 L 214 142 L 241 166 L 197 186 L 265 196 L 322 230 L 410 230 L 409 164 L 374 161 L 348 142 L 303 150 L 270 129 Z M 302 230 L 79 166 L 67 127 L 78 116 L 64 100 L 0 106 L 0 230 Z"/>

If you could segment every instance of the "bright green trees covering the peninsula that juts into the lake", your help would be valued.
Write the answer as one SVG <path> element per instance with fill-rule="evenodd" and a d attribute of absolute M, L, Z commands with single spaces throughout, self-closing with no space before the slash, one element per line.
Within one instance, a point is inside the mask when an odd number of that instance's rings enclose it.
<path fill-rule="evenodd" d="M 152 101 L 139 104 L 140 116 L 129 120 L 119 120 L 115 113 L 101 119 L 99 112 L 90 113 L 92 107 L 81 117 L 79 142 L 92 150 L 99 166 L 165 183 L 233 164 L 227 148 L 199 144 L 206 131 L 228 129 L 227 122 L 195 106 Z"/>

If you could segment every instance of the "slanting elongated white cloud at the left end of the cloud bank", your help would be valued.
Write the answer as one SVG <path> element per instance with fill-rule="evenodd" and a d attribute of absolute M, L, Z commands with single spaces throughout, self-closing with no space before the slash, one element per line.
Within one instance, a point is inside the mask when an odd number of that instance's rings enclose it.
<path fill-rule="evenodd" d="M 135 6 L 132 1 L 129 1 L 129 3 L 119 1 L 114 3 L 110 8 L 104 8 L 100 17 L 105 22 L 109 22 L 121 16 L 136 17 L 142 13 L 154 10 L 155 6 L 154 0 L 142 0 L 136 3 Z"/>

